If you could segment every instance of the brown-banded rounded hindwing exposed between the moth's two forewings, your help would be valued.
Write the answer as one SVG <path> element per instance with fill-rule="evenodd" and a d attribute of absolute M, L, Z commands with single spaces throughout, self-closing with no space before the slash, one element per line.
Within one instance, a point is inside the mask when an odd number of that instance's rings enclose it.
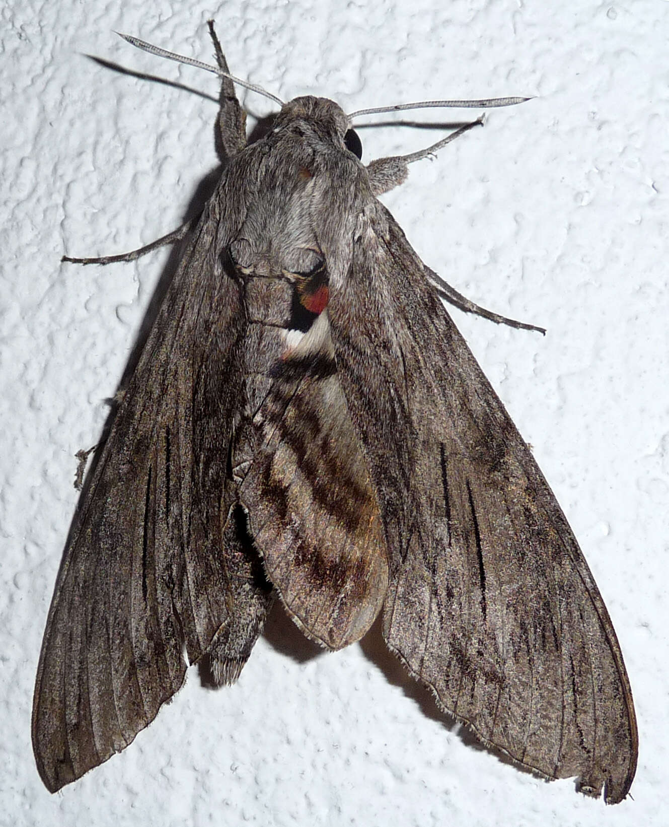
<path fill-rule="evenodd" d="M 277 361 L 241 485 L 256 547 L 300 629 L 338 649 L 366 633 L 388 585 L 379 507 L 332 360 L 327 313 Z"/>

